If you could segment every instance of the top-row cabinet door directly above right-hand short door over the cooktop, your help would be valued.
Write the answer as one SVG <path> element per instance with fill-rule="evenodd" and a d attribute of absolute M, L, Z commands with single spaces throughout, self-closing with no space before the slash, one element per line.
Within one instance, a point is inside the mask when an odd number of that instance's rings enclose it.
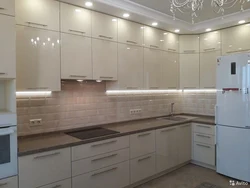
<path fill-rule="evenodd" d="M 92 37 L 117 41 L 118 19 L 106 14 L 92 12 Z"/>

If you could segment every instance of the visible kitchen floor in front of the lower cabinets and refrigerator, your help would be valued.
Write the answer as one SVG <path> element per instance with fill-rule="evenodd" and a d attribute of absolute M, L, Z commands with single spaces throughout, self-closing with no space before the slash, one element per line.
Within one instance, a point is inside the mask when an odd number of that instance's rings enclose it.
<path fill-rule="evenodd" d="M 204 182 L 217 185 L 219 188 L 229 188 L 232 187 L 229 185 L 229 180 L 213 170 L 190 164 L 137 188 L 196 188 Z"/>

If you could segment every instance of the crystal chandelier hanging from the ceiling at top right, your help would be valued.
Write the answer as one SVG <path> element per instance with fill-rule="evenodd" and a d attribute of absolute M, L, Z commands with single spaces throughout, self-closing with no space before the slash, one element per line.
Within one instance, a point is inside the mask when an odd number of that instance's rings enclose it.
<path fill-rule="evenodd" d="M 176 11 L 191 13 L 192 23 L 194 23 L 194 19 L 198 17 L 197 12 L 202 10 L 204 6 L 204 1 L 205 0 L 170 0 L 170 11 L 173 14 L 173 19 L 175 19 Z M 232 8 L 236 3 L 240 3 L 241 11 L 243 11 L 245 2 L 246 0 L 211 0 L 211 7 L 215 13 L 221 14 L 223 17 L 225 10 Z"/>

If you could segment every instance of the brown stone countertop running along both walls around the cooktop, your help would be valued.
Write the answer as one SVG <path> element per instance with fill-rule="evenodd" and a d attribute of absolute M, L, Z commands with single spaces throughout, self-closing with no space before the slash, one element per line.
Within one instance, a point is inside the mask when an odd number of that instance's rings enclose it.
<path fill-rule="evenodd" d="M 64 132 L 46 133 L 41 135 L 20 137 L 18 138 L 18 155 L 25 156 L 30 154 L 36 154 L 40 152 L 51 151 L 55 149 L 61 149 L 61 148 L 101 141 L 109 138 L 115 138 L 164 127 L 181 125 L 190 122 L 215 125 L 214 117 L 211 116 L 196 116 L 196 115 L 180 115 L 180 116 L 186 117 L 187 119 L 185 121 L 176 122 L 164 119 L 151 118 L 151 119 L 134 120 L 122 123 L 102 125 L 101 127 L 103 128 L 115 130 L 118 131 L 119 133 L 108 136 L 97 137 L 93 139 L 86 139 L 86 140 L 80 140 L 71 137 L 65 134 Z"/>

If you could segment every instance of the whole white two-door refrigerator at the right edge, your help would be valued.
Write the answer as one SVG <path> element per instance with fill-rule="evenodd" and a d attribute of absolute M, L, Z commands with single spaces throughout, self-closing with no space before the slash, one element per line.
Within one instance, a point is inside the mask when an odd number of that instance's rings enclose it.
<path fill-rule="evenodd" d="M 250 182 L 250 53 L 217 59 L 217 173 Z"/>

